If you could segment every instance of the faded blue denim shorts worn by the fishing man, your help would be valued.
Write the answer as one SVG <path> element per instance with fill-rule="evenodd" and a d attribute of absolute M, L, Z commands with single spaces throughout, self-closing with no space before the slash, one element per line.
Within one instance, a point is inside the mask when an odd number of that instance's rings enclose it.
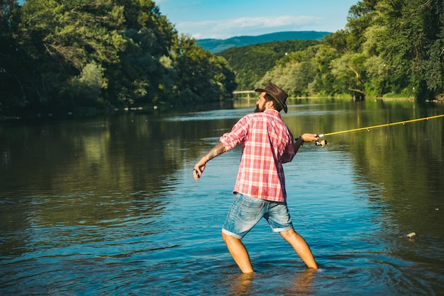
<path fill-rule="evenodd" d="M 273 232 L 284 232 L 293 227 L 287 203 L 250 198 L 238 193 L 228 211 L 222 232 L 242 239 L 262 217 L 270 224 Z"/>

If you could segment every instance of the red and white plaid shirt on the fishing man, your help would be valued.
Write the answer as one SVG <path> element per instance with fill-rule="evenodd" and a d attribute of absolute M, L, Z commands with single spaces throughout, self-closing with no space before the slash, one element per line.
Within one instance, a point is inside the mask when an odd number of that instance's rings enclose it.
<path fill-rule="evenodd" d="M 226 151 L 243 143 L 233 193 L 275 202 L 287 200 L 282 164 L 294 157 L 293 135 L 277 110 L 245 115 L 220 141 Z"/>

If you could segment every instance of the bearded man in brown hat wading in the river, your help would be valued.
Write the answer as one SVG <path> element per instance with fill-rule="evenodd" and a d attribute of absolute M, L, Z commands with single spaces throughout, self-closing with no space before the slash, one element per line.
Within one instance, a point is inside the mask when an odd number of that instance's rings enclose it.
<path fill-rule="evenodd" d="M 293 229 L 287 208 L 284 169 L 292 161 L 303 142 L 318 140 L 314 134 L 304 134 L 293 141 L 292 132 L 282 121 L 280 110 L 287 113 L 287 93 L 269 82 L 260 92 L 255 113 L 245 115 L 222 135 L 218 144 L 194 166 L 194 179 L 199 180 L 206 163 L 243 144 L 238 178 L 233 193 L 236 200 L 222 228 L 222 237 L 235 263 L 243 273 L 252 273 L 248 251 L 241 239 L 265 217 L 273 232 L 279 232 L 292 245 L 309 268 L 318 268 L 303 237 Z"/>

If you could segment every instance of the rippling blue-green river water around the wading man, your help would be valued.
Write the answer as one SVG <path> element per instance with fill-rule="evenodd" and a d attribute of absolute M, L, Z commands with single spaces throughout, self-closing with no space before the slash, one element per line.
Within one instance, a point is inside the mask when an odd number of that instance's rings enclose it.
<path fill-rule="evenodd" d="M 221 239 L 240 149 L 192 169 L 253 108 L 0 125 L 0 294 L 443 295 L 443 118 L 304 144 L 284 165 L 288 204 L 321 271 L 262 220 L 242 275 Z M 443 113 L 309 99 L 282 118 L 298 136 Z"/>

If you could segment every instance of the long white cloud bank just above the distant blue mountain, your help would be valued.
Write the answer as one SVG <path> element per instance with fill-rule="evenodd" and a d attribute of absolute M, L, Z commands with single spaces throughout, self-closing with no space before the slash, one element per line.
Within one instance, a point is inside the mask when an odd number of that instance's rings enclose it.
<path fill-rule="evenodd" d="M 177 23 L 179 33 L 189 34 L 196 39 L 226 39 L 239 35 L 261 35 L 284 30 L 317 30 L 323 18 L 316 16 L 268 16 L 243 17 L 221 21 L 196 21 Z M 311 29 L 309 29 L 311 28 Z M 197 32 L 197 33 L 196 33 Z"/>

